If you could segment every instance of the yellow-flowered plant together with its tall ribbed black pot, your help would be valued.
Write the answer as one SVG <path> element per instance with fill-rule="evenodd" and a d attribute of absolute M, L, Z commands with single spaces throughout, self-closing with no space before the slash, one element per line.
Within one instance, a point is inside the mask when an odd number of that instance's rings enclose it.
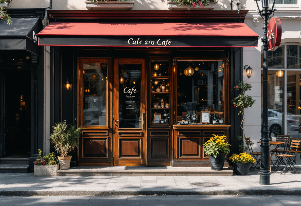
<path fill-rule="evenodd" d="M 212 170 L 222 170 L 225 164 L 225 155 L 229 154 L 231 146 L 226 142 L 226 136 L 213 135 L 203 144 L 204 152 L 209 155 Z"/>

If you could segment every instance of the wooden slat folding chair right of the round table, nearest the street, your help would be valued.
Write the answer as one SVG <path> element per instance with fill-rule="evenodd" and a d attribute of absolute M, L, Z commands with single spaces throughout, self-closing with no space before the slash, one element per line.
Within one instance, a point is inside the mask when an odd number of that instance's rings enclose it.
<path fill-rule="evenodd" d="M 296 154 L 297 154 L 296 150 L 298 150 L 298 148 L 300 148 L 300 142 L 301 142 L 301 140 L 292 139 L 292 141 L 290 142 L 290 151 L 288 152 L 288 154 L 276 154 L 276 156 L 281 157 L 282 159 L 286 159 L 286 162 L 287 162 L 284 169 L 282 170 L 282 172 L 280 174 L 282 174 L 285 171 L 285 169 L 287 168 L 288 165 L 290 167 L 287 169 L 287 171 L 290 170 L 290 169 L 293 170 L 293 168 L 294 168 L 296 173 L 299 174 L 298 171 L 296 170 L 294 164 L 293 164 L 293 159 L 296 158 Z M 293 153 L 293 150 L 295 150 L 294 153 Z M 290 154 L 290 153 L 293 153 L 293 154 Z M 281 164 L 281 161 L 277 165 L 276 170 L 280 166 L 280 164 Z M 287 173 L 287 171 L 284 172 L 284 174 Z"/>

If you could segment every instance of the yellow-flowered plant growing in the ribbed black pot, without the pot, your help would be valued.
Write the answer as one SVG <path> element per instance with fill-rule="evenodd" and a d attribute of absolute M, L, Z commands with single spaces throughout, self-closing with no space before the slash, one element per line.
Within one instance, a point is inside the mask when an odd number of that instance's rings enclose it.
<path fill-rule="evenodd" d="M 214 155 L 214 158 L 221 153 L 229 154 L 230 149 L 228 146 L 231 146 L 226 142 L 226 136 L 217 136 L 213 134 L 208 141 L 203 144 L 203 150 L 207 155 Z"/>

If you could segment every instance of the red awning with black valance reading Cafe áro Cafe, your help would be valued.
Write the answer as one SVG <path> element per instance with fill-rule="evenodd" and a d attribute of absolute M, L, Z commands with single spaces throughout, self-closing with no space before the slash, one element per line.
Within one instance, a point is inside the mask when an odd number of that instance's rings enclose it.
<path fill-rule="evenodd" d="M 75 23 L 53 22 L 39 45 L 257 47 L 259 35 L 244 23 Z"/>

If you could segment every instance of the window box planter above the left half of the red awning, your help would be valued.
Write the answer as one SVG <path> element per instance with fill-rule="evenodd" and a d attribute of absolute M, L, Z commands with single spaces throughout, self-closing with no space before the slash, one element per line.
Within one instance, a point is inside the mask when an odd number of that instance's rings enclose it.
<path fill-rule="evenodd" d="M 129 0 L 87 0 L 88 10 L 131 10 L 134 2 Z"/>

